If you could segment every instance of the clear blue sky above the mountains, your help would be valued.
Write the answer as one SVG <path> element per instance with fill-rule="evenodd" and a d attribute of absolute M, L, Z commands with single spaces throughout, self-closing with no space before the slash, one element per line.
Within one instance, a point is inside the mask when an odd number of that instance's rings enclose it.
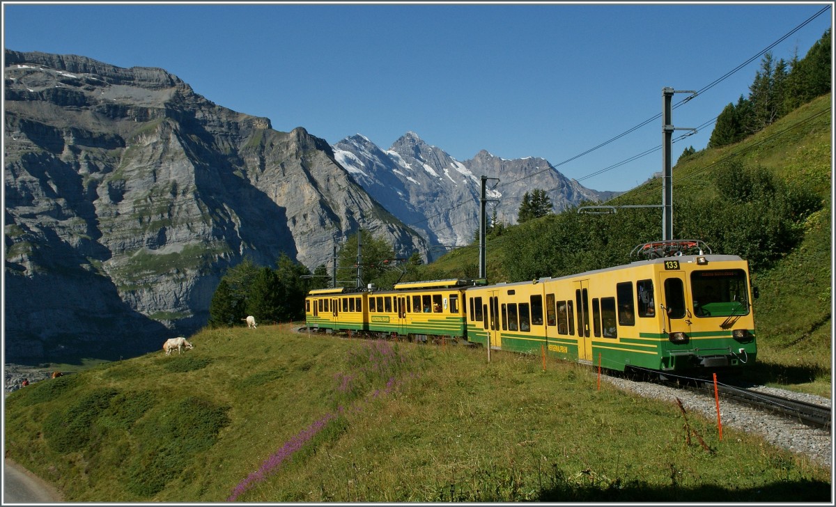
<path fill-rule="evenodd" d="M 359 133 L 386 150 L 412 130 L 456 160 L 538 156 L 594 190 L 628 190 L 661 170 L 660 151 L 605 169 L 660 146 L 660 119 L 577 155 L 660 114 L 662 88 L 703 89 L 828 5 L 3 3 L 3 45 L 165 68 L 331 144 Z M 803 58 L 832 24 L 831 8 L 774 57 Z M 760 62 L 674 109 L 673 124 L 716 118 Z M 711 128 L 675 143 L 674 162 Z"/>

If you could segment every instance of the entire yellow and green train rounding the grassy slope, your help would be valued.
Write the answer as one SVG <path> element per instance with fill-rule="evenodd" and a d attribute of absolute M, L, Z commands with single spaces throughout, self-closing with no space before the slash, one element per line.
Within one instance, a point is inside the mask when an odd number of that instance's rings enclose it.
<path fill-rule="evenodd" d="M 691 247 L 696 254 L 686 254 Z M 449 337 L 624 371 L 715 370 L 757 357 L 748 263 L 704 255 L 701 241 L 657 241 L 653 258 L 571 276 L 484 284 L 439 280 L 374 291 L 322 289 L 305 302 L 314 330 Z"/>

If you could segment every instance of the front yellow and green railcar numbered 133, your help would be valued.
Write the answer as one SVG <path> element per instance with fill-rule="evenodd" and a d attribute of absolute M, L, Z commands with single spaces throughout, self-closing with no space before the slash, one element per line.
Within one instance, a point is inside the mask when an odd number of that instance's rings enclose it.
<path fill-rule="evenodd" d="M 680 250 L 677 243 L 683 243 Z M 696 243 L 637 249 L 681 254 Z M 738 256 L 658 256 L 571 276 L 471 287 L 466 310 L 471 342 L 543 350 L 619 371 L 740 368 L 757 357 L 748 263 Z"/>

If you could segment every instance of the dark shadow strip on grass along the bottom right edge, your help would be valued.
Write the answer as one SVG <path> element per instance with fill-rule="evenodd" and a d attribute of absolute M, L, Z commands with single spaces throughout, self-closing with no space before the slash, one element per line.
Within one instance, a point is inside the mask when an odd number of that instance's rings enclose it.
<path fill-rule="evenodd" d="M 641 483 L 609 487 L 578 487 L 558 484 L 543 489 L 536 501 L 541 502 L 829 502 L 830 484 L 811 480 L 782 481 L 759 488 L 727 489 L 711 485 L 693 488 L 681 486 L 650 487 Z"/>

